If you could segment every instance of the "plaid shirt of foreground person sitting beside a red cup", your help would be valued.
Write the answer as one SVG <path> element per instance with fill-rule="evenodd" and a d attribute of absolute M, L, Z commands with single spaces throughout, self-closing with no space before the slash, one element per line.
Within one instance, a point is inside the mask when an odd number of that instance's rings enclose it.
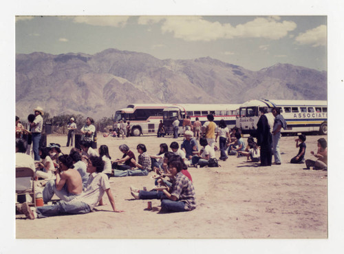
<path fill-rule="evenodd" d="M 178 201 L 185 203 L 184 209 L 191 211 L 196 208 L 193 183 L 182 172 L 178 172 L 175 176 L 171 190 L 171 195 L 174 195 Z"/>

